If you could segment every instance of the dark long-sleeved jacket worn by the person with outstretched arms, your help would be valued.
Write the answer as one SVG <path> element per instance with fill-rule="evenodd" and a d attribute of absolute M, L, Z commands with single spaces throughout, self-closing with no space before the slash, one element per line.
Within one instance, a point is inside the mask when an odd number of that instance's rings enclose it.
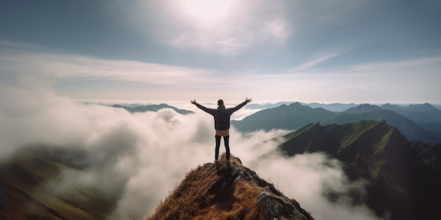
<path fill-rule="evenodd" d="M 240 103 L 235 108 L 225 108 L 225 106 L 219 106 L 218 109 L 206 108 L 203 105 L 196 103 L 197 108 L 204 110 L 204 112 L 213 115 L 214 117 L 214 129 L 216 131 L 228 130 L 230 129 L 230 116 L 233 112 L 240 110 L 240 108 L 247 105 L 247 101 Z"/>

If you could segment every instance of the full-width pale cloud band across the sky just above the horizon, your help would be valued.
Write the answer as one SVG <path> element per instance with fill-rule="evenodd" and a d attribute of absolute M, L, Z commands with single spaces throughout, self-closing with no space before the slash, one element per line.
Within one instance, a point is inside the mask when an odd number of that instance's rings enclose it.
<path fill-rule="evenodd" d="M 237 102 L 249 96 L 260 102 L 439 103 L 441 58 L 320 68 L 341 54 L 321 53 L 286 72 L 225 75 L 217 70 L 9 50 L 0 51 L 0 84 L 56 88 L 77 99 Z"/>

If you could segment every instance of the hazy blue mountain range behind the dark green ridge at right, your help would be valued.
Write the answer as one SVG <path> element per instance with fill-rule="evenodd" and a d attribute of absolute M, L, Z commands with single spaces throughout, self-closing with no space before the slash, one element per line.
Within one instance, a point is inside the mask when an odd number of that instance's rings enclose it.
<path fill-rule="evenodd" d="M 411 119 L 406 115 L 410 115 Z M 377 105 L 362 104 L 344 112 L 331 112 L 323 108 L 292 103 L 261 110 L 241 121 L 232 121 L 232 125 L 239 131 L 249 132 L 260 129 L 294 130 L 313 122 L 347 124 L 361 120 L 385 120 L 387 124 L 397 127 L 409 141 L 436 143 L 441 142 L 441 123 L 438 121 L 440 118 L 441 110 L 433 108 L 430 104 L 409 105 L 404 110 L 396 105 L 382 105 L 380 108 Z M 429 119 L 433 121 L 427 123 Z"/>

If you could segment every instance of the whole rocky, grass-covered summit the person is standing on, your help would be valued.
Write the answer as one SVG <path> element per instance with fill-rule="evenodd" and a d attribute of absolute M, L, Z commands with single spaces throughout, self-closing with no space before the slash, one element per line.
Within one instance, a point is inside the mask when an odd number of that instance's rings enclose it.
<path fill-rule="evenodd" d="M 206 163 L 190 171 L 161 202 L 153 219 L 313 219 L 296 200 L 244 167 L 230 162 Z"/>

